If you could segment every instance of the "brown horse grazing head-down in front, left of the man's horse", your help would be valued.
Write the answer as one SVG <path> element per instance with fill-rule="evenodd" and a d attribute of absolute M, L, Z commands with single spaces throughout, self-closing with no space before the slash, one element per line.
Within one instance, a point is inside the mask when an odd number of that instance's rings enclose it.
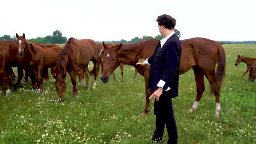
<path fill-rule="evenodd" d="M 68 39 L 56 62 L 55 87 L 59 94 L 60 101 L 64 101 L 64 93 L 66 91 L 66 71 L 71 77 L 73 97 L 77 94 L 77 71 L 81 66 L 87 67 L 90 61 L 94 63 L 94 68 L 90 71 L 90 74 L 94 74 L 96 84 L 98 61 L 100 58 L 100 53 L 97 49 L 98 46 L 94 40 Z"/>

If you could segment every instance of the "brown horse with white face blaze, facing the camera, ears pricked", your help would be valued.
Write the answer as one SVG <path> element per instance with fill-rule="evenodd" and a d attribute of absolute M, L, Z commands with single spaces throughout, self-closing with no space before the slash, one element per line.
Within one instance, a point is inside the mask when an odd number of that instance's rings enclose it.
<path fill-rule="evenodd" d="M 19 42 L 19 53 L 27 56 L 29 65 L 36 77 L 37 88 L 42 92 L 42 72 L 43 68 L 54 67 L 62 47 L 56 46 L 50 49 L 43 49 L 26 40 L 25 34 L 16 34 L 16 41 Z"/>

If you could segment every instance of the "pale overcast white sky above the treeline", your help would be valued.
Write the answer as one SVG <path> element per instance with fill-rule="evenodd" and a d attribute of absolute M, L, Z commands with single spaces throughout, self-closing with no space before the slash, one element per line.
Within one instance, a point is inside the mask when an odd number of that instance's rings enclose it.
<path fill-rule="evenodd" d="M 5 0 L 0 37 L 16 33 L 95 41 L 131 40 L 159 34 L 159 15 L 176 19 L 181 39 L 256 40 L 255 0 Z"/>

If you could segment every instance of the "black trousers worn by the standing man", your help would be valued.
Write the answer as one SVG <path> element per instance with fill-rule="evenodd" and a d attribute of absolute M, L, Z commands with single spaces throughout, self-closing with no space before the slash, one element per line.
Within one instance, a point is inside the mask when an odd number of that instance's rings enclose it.
<path fill-rule="evenodd" d="M 162 136 L 164 134 L 166 124 L 168 133 L 167 143 L 177 143 L 178 133 L 172 109 L 172 98 L 170 96 L 168 97 L 165 91 L 163 91 L 159 101 L 154 101 L 154 114 L 156 119 L 155 131 L 152 140 L 157 142 L 162 141 Z"/>

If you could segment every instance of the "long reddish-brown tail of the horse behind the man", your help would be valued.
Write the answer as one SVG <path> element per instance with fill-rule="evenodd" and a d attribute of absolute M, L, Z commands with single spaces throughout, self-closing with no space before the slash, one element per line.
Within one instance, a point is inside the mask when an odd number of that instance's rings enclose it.
<path fill-rule="evenodd" d="M 225 77 L 225 69 L 226 69 L 226 56 L 225 56 L 225 50 L 222 45 L 219 43 L 215 43 L 217 49 L 218 49 L 218 59 L 217 59 L 217 69 L 216 74 L 214 75 L 213 81 L 211 83 L 211 91 L 219 92 L 220 87 L 222 86 L 224 77 Z"/>

